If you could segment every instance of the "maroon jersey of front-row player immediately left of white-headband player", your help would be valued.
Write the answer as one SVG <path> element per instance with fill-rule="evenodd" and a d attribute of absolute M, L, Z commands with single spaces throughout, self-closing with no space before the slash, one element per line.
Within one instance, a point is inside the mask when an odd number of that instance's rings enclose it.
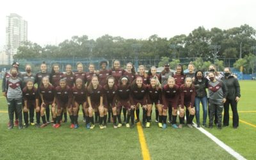
<path fill-rule="evenodd" d="M 117 86 L 114 85 L 111 89 L 108 88 L 107 84 L 103 88 L 104 90 L 104 98 L 106 105 L 108 104 L 115 104 L 116 103 L 116 93 L 117 93 Z"/>

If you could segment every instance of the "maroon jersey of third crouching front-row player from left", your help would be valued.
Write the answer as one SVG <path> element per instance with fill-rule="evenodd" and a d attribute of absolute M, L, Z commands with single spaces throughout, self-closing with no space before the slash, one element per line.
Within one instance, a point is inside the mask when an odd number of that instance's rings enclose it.
<path fill-rule="evenodd" d="M 57 102 L 67 103 L 67 106 L 70 106 L 72 102 L 72 89 L 66 86 L 65 88 L 61 88 L 61 86 L 57 86 L 55 88 L 55 98 Z"/>

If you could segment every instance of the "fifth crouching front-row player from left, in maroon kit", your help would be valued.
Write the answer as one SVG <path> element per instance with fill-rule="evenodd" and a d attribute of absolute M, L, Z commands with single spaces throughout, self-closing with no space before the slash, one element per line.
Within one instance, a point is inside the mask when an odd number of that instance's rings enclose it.
<path fill-rule="evenodd" d="M 89 112 L 89 122 L 91 123 L 90 129 L 95 127 L 93 120 L 93 111 L 95 108 L 99 110 L 99 124 L 100 129 L 104 129 L 102 125 L 102 121 L 104 118 L 104 106 L 103 106 L 103 89 L 102 86 L 99 85 L 99 78 L 97 76 L 92 77 L 92 82 L 89 84 L 87 89 L 87 101 L 88 104 L 86 108 L 88 108 Z"/>

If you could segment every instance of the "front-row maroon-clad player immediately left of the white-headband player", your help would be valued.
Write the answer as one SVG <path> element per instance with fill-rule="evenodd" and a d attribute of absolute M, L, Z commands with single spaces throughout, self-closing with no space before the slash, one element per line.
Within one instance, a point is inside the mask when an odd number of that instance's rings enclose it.
<path fill-rule="evenodd" d="M 113 76 L 107 77 L 107 84 L 104 86 L 104 106 L 113 111 L 114 128 L 122 127 L 120 108 L 116 108 L 116 93 L 117 86 L 115 85 L 115 78 Z M 116 115 L 118 117 L 118 125 L 116 124 Z M 105 121 L 104 116 L 104 121 Z M 106 122 L 104 122 L 106 124 Z"/>

